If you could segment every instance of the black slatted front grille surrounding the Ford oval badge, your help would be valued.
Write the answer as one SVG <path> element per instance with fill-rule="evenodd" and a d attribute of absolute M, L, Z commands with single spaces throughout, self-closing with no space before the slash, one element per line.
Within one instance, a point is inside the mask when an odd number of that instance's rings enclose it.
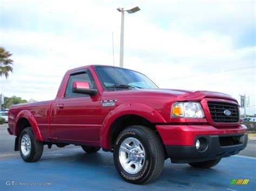
<path fill-rule="evenodd" d="M 238 105 L 226 102 L 208 102 L 212 121 L 215 123 L 237 123 L 239 121 Z M 230 116 L 224 114 L 225 110 L 231 111 Z"/>

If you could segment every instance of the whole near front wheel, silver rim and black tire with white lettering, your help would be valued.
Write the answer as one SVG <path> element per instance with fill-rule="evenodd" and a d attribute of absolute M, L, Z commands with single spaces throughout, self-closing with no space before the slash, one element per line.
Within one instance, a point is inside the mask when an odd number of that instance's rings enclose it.
<path fill-rule="evenodd" d="M 114 143 L 114 165 L 127 182 L 143 184 L 163 171 L 165 153 L 160 138 L 145 126 L 129 126 Z"/>

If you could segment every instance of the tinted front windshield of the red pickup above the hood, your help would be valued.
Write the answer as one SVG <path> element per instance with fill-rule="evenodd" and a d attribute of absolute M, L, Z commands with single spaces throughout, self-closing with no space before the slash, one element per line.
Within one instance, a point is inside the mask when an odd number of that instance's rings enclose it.
<path fill-rule="evenodd" d="M 96 72 L 104 88 L 158 88 L 147 76 L 138 72 L 109 66 L 96 66 Z"/>

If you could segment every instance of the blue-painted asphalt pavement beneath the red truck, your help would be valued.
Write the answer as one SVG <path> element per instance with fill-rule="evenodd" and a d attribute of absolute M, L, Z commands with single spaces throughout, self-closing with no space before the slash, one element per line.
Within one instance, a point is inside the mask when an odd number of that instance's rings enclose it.
<path fill-rule="evenodd" d="M 87 154 L 79 146 L 50 150 L 45 146 L 38 162 L 24 162 L 14 152 L 14 136 L 0 125 L 0 190 L 255 190 L 255 143 L 245 151 L 221 159 L 211 169 L 165 161 L 160 177 L 147 185 L 123 181 L 113 164 L 112 153 Z M 242 154 L 242 155 L 241 155 Z M 232 179 L 248 179 L 247 185 L 231 185 Z M 21 185 L 22 184 L 22 185 Z M 41 185 L 40 185 L 41 184 Z"/>

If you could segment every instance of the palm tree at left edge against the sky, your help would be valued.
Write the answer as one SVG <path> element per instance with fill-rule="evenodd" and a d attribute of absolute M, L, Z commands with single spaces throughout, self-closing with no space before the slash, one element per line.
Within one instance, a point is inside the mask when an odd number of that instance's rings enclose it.
<path fill-rule="evenodd" d="M 9 72 L 12 72 L 13 68 L 10 66 L 13 64 L 13 60 L 9 57 L 12 54 L 4 49 L 4 47 L 0 47 L 0 76 L 5 75 L 6 79 L 9 76 Z"/>

